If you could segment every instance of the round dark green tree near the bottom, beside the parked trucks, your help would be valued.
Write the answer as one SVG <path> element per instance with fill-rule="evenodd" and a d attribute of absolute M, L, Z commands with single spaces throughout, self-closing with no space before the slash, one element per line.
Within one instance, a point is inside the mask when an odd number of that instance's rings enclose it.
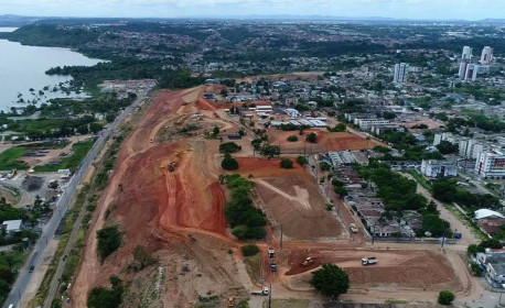
<path fill-rule="evenodd" d="M 331 263 L 325 263 L 320 270 L 312 272 L 310 284 L 318 293 L 334 298 L 347 293 L 350 287 L 347 273 Z"/>

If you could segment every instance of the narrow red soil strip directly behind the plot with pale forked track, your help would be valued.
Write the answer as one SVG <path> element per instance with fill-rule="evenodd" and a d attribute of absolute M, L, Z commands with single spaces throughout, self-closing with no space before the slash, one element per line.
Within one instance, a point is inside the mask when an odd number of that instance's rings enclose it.
<path fill-rule="evenodd" d="M 238 162 L 237 173 L 241 176 L 253 175 L 254 177 L 270 177 L 270 176 L 284 176 L 292 174 L 301 174 L 309 176 L 307 170 L 293 160 L 293 168 L 284 169 L 280 167 L 280 160 L 264 160 L 256 157 L 235 157 Z"/>

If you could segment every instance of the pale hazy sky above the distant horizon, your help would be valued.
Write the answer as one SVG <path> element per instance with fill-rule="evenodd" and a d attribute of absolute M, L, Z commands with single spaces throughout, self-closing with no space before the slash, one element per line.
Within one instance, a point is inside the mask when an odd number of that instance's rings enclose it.
<path fill-rule="evenodd" d="M 35 16 L 384 16 L 505 19 L 505 0 L 0 0 L 0 14 Z"/>

